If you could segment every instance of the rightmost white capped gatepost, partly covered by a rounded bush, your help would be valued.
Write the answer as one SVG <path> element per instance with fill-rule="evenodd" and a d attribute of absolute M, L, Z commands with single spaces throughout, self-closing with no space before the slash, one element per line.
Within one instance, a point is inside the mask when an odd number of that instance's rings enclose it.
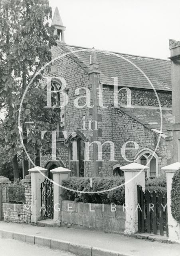
<path fill-rule="evenodd" d="M 161 169 L 166 172 L 169 240 L 180 243 L 180 224 L 174 220 L 171 214 L 172 178 L 174 173 L 180 170 L 180 163 L 176 162 L 174 164 L 164 166 Z"/>

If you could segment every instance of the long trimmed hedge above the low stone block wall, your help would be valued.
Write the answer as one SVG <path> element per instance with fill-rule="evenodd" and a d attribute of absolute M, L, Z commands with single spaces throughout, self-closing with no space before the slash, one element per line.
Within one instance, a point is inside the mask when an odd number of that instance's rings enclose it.
<path fill-rule="evenodd" d="M 90 178 L 68 178 L 63 180 L 63 186 L 79 191 L 101 191 L 119 186 L 125 182 L 124 177 L 99 178 L 93 179 L 93 186 L 90 187 Z M 117 204 L 125 203 L 125 186 L 115 190 L 96 194 L 84 194 L 72 192 L 63 189 L 63 199 L 77 202 L 94 203 L 94 204 Z"/>

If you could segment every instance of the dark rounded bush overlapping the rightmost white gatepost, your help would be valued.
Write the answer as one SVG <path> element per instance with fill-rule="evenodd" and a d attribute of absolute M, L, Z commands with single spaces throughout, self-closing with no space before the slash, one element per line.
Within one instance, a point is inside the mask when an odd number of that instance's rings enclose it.
<path fill-rule="evenodd" d="M 176 172 L 172 178 L 171 189 L 171 213 L 173 218 L 180 222 L 180 172 Z"/>

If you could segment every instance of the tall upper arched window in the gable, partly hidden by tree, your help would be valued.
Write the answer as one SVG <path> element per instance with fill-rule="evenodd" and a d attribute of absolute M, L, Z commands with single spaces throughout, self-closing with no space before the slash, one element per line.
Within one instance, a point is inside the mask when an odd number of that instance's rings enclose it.
<path fill-rule="evenodd" d="M 51 80 L 51 102 L 52 106 L 58 107 L 62 106 L 64 102 L 63 94 L 60 93 L 61 82 L 57 82 L 55 80 Z M 53 93 L 54 92 L 54 93 Z M 57 130 L 64 131 L 65 130 L 65 110 L 64 107 L 59 108 L 60 111 L 60 120 L 57 125 Z M 57 133 L 57 138 L 64 139 L 63 132 Z"/>

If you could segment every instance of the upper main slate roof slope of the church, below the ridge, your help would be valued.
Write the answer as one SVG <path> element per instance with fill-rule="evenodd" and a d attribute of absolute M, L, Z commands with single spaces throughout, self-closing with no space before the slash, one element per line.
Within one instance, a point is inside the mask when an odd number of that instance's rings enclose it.
<path fill-rule="evenodd" d="M 89 67 L 91 51 L 89 48 L 65 45 L 70 51 L 82 50 L 73 53 L 84 68 Z M 140 68 L 152 82 L 156 90 L 171 91 L 170 60 L 148 58 L 130 54 L 96 50 L 99 62 L 100 82 L 113 85 L 113 78 L 118 77 L 118 85 L 131 88 L 152 89 L 144 75 L 130 62 Z M 127 59 L 127 60 L 126 60 Z M 130 61 L 130 62 L 128 62 Z"/>

